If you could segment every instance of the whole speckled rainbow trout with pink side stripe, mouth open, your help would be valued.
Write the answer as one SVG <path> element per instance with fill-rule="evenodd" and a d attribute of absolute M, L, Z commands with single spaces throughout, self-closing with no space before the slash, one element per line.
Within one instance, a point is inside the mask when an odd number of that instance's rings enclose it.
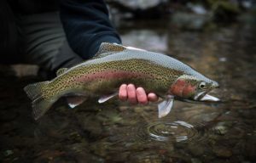
<path fill-rule="evenodd" d="M 71 108 L 84 103 L 88 96 L 98 97 L 102 104 L 117 96 L 123 83 L 133 83 L 162 98 L 159 118 L 170 113 L 175 98 L 219 101 L 208 94 L 219 87 L 218 82 L 189 65 L 166 54 L 109 42 L 102 42 L 92 59 L 61 68 L 51 81 L 32 83 L 24 90 L 32 99 L 32 113 L 38 120 L 59 98 L 67 98 Z"/>

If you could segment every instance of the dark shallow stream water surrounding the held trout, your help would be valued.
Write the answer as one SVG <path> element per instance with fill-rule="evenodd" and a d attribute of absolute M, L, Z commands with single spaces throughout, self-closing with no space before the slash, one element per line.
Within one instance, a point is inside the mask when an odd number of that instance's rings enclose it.
<path fill-rule="evenodd" d="M 22 87 L 41 79 L 16 77 L 2 66 L 2 162 L 256 161 L 255 27 L 179 31 L 165 22 L 137 22 L 119 31 L 124 44 L 167 53 L 218 81 L 212 95 L 223 102 L 175 101 L 171 114 L 158 119 L 156 104 L 91 98 L 70 110 L 61 100 L 33 121 Z"/>

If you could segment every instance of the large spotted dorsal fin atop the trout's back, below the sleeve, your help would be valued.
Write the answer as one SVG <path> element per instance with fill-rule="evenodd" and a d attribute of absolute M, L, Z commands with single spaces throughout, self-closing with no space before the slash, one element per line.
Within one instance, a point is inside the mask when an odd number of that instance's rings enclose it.
<path fill-rule="evenodd" d="M 96 53 L 95 57 L 99 57 L 104 55 L 103 53 L 117 53 L 125 50 L 126 48 L 122 45 L 117 43 L 109 43 L 109 42 L 102 42 L 98 52 Z"/>

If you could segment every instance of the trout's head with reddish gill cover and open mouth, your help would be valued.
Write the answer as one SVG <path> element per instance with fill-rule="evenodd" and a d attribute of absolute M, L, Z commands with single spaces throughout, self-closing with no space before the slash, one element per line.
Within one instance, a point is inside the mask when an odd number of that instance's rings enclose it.
<path fill-rule="evenodd" d="M 169 89 L 169 93 L 178 97 L 195 101 L 219 101 L 207 93 L 218 88 L 218 82 L 214 82 L 205 76 L 179 76 Z"/>

